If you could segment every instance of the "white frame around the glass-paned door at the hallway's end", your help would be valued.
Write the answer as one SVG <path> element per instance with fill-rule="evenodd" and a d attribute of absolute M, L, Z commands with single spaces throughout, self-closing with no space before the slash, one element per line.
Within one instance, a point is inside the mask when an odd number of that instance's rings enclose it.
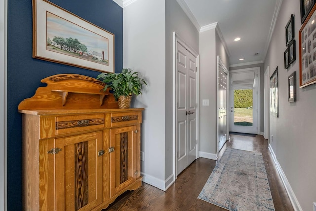
<path fill-rule="evenodd" d="M 239 69 L 239 70 L 231 70 L 229 71 L 230 74 L 231 73 L 238 73 L 238 72 L 245 72 L 245 71 L 255 71 L 257 72 L 257 133 L 258 135 L 262 135 L 261 134 L 261 124 L 260 124 L 260 119 L 261 119 L 261 115 L 260 115 L 260 96 L 261 96 L 261 91 L 260 91 L 260 67 L 251 67 L 251 68 L 245 68 L 245 69 Z M 230 93 L 231 94 L 231 93 Z M 230 117 L 231 119 L 231 117 Z"/>

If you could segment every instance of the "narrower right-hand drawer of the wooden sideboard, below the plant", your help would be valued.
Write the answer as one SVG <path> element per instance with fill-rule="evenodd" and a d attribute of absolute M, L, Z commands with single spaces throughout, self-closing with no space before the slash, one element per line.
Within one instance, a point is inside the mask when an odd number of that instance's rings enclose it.
<path fill-rule="evenodd" d="M 123 126 L 129 124 L 137 124 L 140 116 L 138 112 L 126 112 L 126 113 L 112 113 L 111 114 L 111 127 Z"/>

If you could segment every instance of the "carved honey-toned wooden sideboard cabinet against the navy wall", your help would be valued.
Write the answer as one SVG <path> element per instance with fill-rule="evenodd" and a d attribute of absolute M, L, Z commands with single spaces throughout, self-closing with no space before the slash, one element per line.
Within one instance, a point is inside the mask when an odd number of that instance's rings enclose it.
<path fill-rule="evenodd" d="M 143 108 L 118 109 L 90 77 L 60 74 L 42 82 L 47 87 L 19 105 L 23 210 L 100 211 L 139 188 Z"/>

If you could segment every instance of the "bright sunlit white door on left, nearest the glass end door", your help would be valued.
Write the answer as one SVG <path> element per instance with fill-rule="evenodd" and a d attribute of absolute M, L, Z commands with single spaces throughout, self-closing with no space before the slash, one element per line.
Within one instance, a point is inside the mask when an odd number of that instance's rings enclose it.
<path fill-rule="evenodd" d="M 227 141 L 227 72 L 218 58 L 218 151 Z"/>

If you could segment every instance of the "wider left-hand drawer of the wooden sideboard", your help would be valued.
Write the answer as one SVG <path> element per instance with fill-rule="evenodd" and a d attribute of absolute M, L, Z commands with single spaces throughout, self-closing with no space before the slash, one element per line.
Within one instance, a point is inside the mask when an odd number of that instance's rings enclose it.
<path fill-rule="evenodd" d="M 56 117 L 56 135 L 104 128 L 104 114 Z"/>

